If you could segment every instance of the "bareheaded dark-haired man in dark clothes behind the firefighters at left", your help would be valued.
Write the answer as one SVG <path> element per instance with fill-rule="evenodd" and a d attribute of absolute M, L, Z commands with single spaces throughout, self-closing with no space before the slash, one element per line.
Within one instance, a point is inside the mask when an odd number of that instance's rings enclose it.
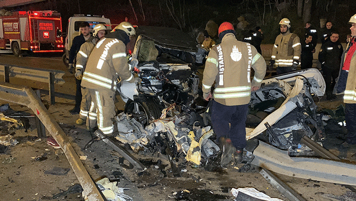
<path fill-rule="evenodd" d="M 78 53 L 80 46 L 85 43 L 85 41 L 91 41 L 94 39 L 92 35 L 90 35 L 90 25 L 88 22 L 83 22 L 79 25 L 80 35 L 74 37 L 71 50 L 69 50 L 69 66 L 68 70 L 71 74 L 74 73 L 75 70 L 75 60 L 76 54 Z M 80 102 L 81 102 L 81 88 L 80 88 L 81 80 L 76 79 L 76 104 L 73 109 L 69 112 L 74 114 L 79 114 L 80 112 Z"/>

